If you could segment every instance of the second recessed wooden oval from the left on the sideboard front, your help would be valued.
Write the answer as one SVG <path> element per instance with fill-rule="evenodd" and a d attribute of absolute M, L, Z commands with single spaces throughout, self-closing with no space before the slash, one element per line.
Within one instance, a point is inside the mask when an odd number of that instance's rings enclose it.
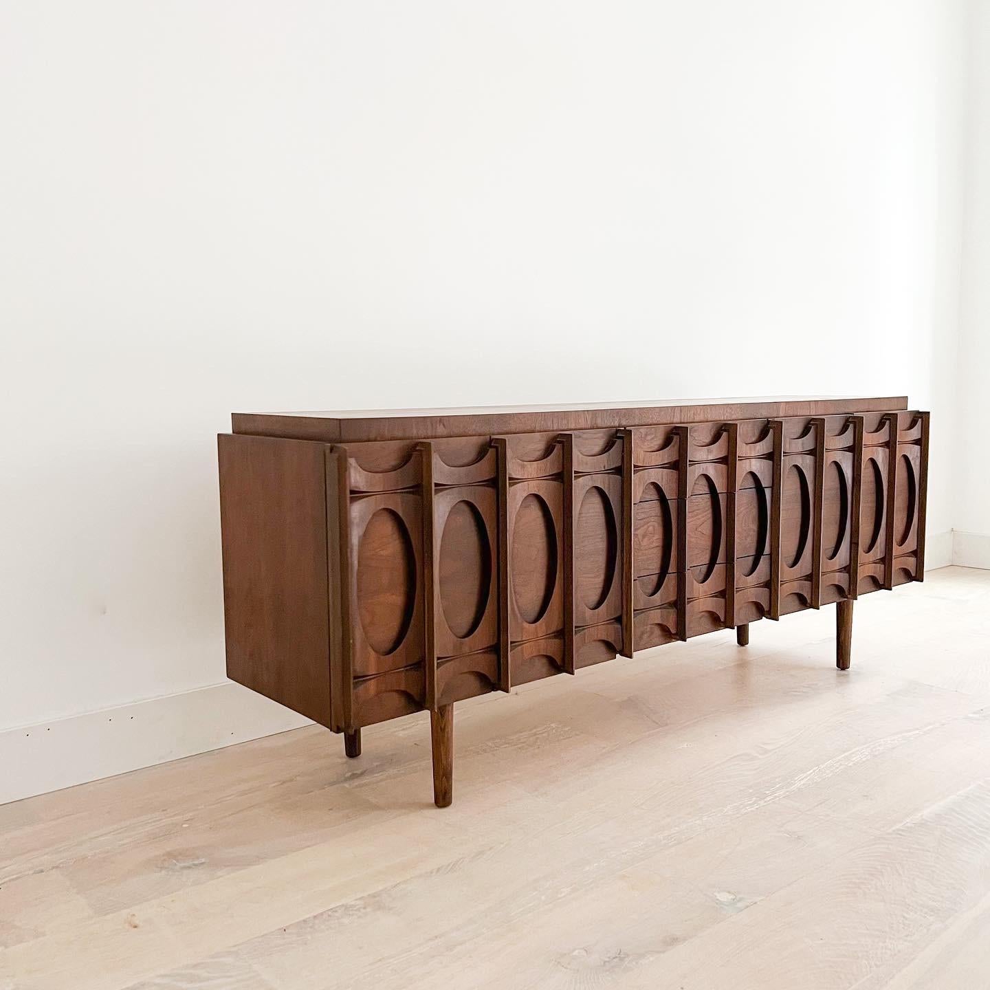
<path fill-rule="evenodd" d="M 446 624 L 466 640 L 481 624 L 491 593 L 491 545 L 472 502 L 461 500 L 447 514 L 437 571 Z"/>

